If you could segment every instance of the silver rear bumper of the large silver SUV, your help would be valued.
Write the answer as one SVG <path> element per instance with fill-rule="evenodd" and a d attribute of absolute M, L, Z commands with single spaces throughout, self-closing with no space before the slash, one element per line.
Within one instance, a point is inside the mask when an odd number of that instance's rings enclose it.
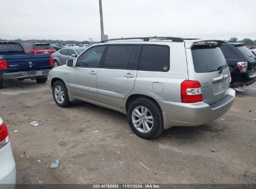
<path fill-rule="evenodd" d="M 174 103 L 158 101 L 163 111 L 164 129 L 173 126 L 201 126 L 225 114 L 234 103 L 235 90 L 229 89 L 229 94 L 214 104 Z"/>

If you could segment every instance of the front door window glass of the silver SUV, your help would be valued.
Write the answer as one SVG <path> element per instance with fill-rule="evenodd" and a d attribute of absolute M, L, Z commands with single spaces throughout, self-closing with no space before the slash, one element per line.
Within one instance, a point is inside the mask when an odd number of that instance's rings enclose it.
<path fill-rule="evenodd" d="M 105 48 L 105 46 L 90 48 L 78 58 L 76 67 L 97 68 Z"/>

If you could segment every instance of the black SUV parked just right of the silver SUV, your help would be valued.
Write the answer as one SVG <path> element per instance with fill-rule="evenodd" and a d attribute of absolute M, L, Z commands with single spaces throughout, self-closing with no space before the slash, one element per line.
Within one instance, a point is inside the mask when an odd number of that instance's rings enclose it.
<path fill-rule="evenodd" d="M 251 85 L 256 81 L 256 60 L 244 44 L 228 42 L 220 47 L 229 65 L 234 88 Z"/>

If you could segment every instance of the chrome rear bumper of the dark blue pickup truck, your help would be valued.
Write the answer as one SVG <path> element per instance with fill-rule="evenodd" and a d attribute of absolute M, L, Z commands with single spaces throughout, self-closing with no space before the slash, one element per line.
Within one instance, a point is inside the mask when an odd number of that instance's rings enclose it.
<path fill-rule="evenodd" d="M 49 75 L 50 70 L 18 71 L 13 73 L 2 73 L 3 80 L 39 78 Z"/>

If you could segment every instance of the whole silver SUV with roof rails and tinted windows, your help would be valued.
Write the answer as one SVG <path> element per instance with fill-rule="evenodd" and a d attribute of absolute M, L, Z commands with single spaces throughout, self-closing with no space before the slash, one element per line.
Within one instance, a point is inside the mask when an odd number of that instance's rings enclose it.
<path fill-rule="evenodd" d="M 173 126 L 200 126 L 232 106 L 224 41 L 143 37 L 95 44 L 50 71 L 55 103 L 75 99 L 127 114 L 131 129 L 153 139 Z"/>

